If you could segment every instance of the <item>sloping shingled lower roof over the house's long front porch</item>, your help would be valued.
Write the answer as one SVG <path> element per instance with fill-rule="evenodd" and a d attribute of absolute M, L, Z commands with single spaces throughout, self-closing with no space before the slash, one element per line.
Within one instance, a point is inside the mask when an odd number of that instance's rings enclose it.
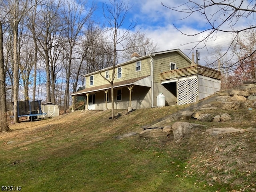
<path fill-rule="evenodd" d="M 148 76 L 133 78 L 133 79 L 124 80 L 124 81 L 120 81 L 120 82 L 114 82 L 114 88 L 129 86 L 129 85 L 140 85 L 140 86 L 151 87 L 150 82 L 151 82 L 150 75 L 148 75 Z M 100 85 L 100 86 L 85 88 L 78 92 L 74 92 L 70 95 L 71 96 L 85 96 L 86 93 L 98 92 L 98 91 L 103 91 L 103 90 L 108 90 L 108 89 L 111 89 L 111 86 L 109 83 Z"/>

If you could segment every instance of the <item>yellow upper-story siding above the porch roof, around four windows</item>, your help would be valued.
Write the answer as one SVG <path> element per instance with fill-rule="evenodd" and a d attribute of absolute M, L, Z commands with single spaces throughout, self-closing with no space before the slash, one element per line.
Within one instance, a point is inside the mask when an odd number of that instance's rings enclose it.
<path fill-rule="evenodd" d="M 137 61 L 141 61 L 141 70 L 136 72 L 136 62 Z M 150 72 L 150 69 L 151 69 L 150 61 L 151 61 L 150 58 L 146 58 L 144 60 L 135 60 L 134 62 L 130 62 L 125 65 L 121 65 L 122 78 L 119 78 L 119 79 L 117 78 L 118 67 L 116 67 L 115 68 L 116 77 L 114 78 L 114 82 L 120 82 L 120 81 L 124 81 L 124 80 L 129 80 L 129 79 L 133 79 L 133 78 L 150 75 L 150 73 L 151 73 Z M 110 68 L 109 69 L 110 78 L 112 78 L 112 72 L 113 72 L 113 69 Z M 105 71 L 102 71 L 101 73 L 103 76 L 105 76 Z M 94 76 L 94 84 L 92 86 L 90 86 L 90 76 L 92 76 L 92 75 Z M 92 75 L 86 76 L 86 88 L 108 84 L 108 82 L 102 76 L 100 76 L 100 73 L 96 73 L 96 74 L 92 74 Z"/>

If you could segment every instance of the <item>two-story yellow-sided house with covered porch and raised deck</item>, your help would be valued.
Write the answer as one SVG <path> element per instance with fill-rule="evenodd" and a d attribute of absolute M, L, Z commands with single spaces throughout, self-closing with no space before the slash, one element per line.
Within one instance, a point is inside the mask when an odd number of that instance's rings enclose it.
<path fill-rule="evenodd" d="M 118 64 L 115 68 L 114 108 L 157 107 L 159 94 L 165 96 L 166 106 L 186 104 L 220 90 L 220 72 L 193 63 L 194 61 L 179 49 L 145 56 L 133 54 L 131 60 Z M 109 78 L 112 70 L 113 68 L 109 67 L 100 72 L 86 74 L 86 88 L 71 94 L 73 100 L 76 96 L 86 96 L 86 110 L 110 109 L 111 87 L 100 73 Z M 219 76 L 209 76 L 211 72 L 216 72 Z M 211 81 L 214 83 L 209 87 L 207 84 Z M 214 89 L 211 88 L 212 85 Z M 205 89 L 202 94 L 199 87 Z"/>

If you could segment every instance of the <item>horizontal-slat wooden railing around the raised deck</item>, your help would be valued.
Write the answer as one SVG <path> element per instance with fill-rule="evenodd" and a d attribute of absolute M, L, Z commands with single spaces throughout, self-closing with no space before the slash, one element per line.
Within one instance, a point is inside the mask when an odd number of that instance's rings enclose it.
<path fill-rule="evenodd" d="M 195 66 L 189 66 L 181 69 L 171 70 L 167 72 L 162 72 L 160 74 L 161 81 L 167 81 L 167 80 L 173 80 L 181 77 L 187 77 L 187 76 L 194 76 L 194 75 L 202 75 L 214 79 L 221 79 L 221 73 L 220 71 L 195 65 Z"/>

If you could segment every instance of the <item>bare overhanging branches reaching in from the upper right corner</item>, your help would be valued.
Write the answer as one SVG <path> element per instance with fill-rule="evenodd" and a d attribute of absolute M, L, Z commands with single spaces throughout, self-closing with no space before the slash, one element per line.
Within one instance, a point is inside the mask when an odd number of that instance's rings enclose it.
<path fill-rule="evenodd" d="M 204 29 L 199 31 L 198 33 L 187 34 L 182 32 L 175 26 L 182 34 L 188 36 L 196 36 L 200 35 L 201 39 L 198 40 L 195 47 L 201 46 L 200 48 L 207 48 L 208 41 L 210 39 L 216 39 L 220 32 L 226 33 L 229 37 L 231 36 L 231 43 L 226 48 L 224 54 L 227 54 L 229 51 L 232 52 L 232 44 L 234 46 L 238 46 L 238 37 L 241 32 L 246 31 L 248 29 L 256 28 L 255 24 L 249 24 L 248 21 L 253 20 L 255 18 L 256 13 L 256 4 L 255 1 L 247 1 L 247 0 L 204 0 L 204 1 L 194 1 L 187 0 L 184 4 L 180 4 L 179 6 L 171 7 L 166 4 L 163 4 L 166 8 L 169 8 L 172 11 L 182 13 L 183 18 L 180 19 L 180 22 L 183 20 L 186 22 L 186 19 L 189 19 L 188 22 L 197 24 L 204 24 Z M 193 16 L 196 16 L 193 20 Z M 200 22 L 198 22 L 200 21 Z M 245 25 L 245 23 L 247 23 Z M 233 36 L 232 36 L 233 35 Z M 256 52 L 256 49 L 250 54 L 247 55 L 247 58 L 252 56 Z M 234 56 L 234 53 L 233 53 Z M 240 65 L 240 61 L 232 62 L 232 66 Z"/>

